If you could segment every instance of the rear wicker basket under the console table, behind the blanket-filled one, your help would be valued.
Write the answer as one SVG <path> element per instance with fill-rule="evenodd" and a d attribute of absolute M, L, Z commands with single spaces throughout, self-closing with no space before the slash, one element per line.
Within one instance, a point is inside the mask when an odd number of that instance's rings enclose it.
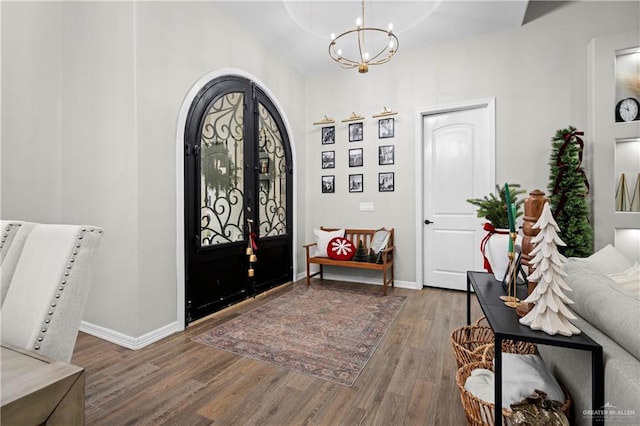
<path fill-rule="evenodd" d="M 470 362 L 491 361 L 494 357 L 494 335 L 490 327 L 480 325 L 485 317 L 479 318 L 473 325 L 458 327 L 451 332 L 449 340 L 456 357 L 458 368 Z M 485 352 L 487 352 L 485 354 Z M 516 354 L 535 354 L 537 347 L 533 343 L 504 340 L 502 352 Z"/>

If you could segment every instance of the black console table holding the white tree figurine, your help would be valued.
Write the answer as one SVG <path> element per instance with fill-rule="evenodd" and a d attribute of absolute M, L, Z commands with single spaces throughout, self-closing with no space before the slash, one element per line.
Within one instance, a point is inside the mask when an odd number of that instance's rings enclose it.
<path fill-rule="evenodd" d="M 564 348 L 580 349 L 591 352 L 591 405 L 594 413 L 601 412 L 604 406 L 604 368 L 602 346 L 593 341 L 584 332 L 575 336 L 549 335 L 543 331 L 532 330 L 520 324 L 516 310 L 510 308 L 500 300 L 505 295 L 502 284 L 486 272 L 467 271 L 467 325 L 471 324 L 471 289 L 480 303 L 480 308 L 487 318 L 489 327 L 495 335 L 495 424 L 502 424 L 502 341 L 531 342 L 542 345 L 560 346 Z M 524 299 L 527 289 L 517 287 L 517 296 Z M 597 411 L 596 411 L 597 410 Z M 594 415 L 592 423 L 603 425 L 602 415 Z"/>

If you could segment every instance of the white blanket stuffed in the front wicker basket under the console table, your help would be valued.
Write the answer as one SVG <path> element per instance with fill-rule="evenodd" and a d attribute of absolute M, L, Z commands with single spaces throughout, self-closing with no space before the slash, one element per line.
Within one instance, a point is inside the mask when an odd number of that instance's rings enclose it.
<path fill-rule="evenodd" d="M 477 369 L 471 372 L 464 387 L 477 398 L 493 404 L 494 380 L 492 371 Z M 510 409 L 511 404 L 522 401 L 535 390 L 545 392 L 547 399 L 564 403 L 562 388 L 540 356 L 503 353 L 502 407 Z"/>

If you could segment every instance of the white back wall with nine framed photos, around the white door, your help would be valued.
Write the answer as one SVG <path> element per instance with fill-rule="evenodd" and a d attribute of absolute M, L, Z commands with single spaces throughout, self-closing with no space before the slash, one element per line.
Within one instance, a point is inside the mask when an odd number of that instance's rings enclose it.
<path fill-rule="evenodd" d="M 517 29 L 403 52 L 388 64 L 358 74 L 336 66 L 333 73 L 309 76 L 306 122 L 307 239 L 312 229 L 328 226 L 393 226 L 396 228 L 396 278 L 415 282 L 415 137 L 416 110 L 424 107 L 496 98 L 496 182 L 520 183 L 547 190 L 551 137 L 574 125 L 587 130 L 587 48 L 602 34 L 638 31 L 637 2 L 569 3 Z M 640 38 L 639 38 L 640 42 Z M 402 43 L 402 40 L 401 40 Z M 402 46 L 402 44 L 400 44 Z M 330 90 L 328 90 L 330 89 Z M 313 101 L 311 101 L 313 100 Z M 396 137 L 378 140 L 377 120 L 387 106 L 399 111 Z M 352 111 L 365 121 L 364 168 L 348 168 L 346 124 Z M 336 118 L 337 142 L 320 144 L 323 115 Z M 589 135 L 585 135 L 591 143 Z M 378 166 L 377 146 L 396 146 L 395 166 Z M 351 144 L 356 145 L 356 144 Z M 336 151 L 336 169 L 322 170 L 320 153 Z M 612 165 L 611 165 L 612 166 Z M 362 171 L 360 171 L 362 170 Z M 379 193 L 378 171 L 394 171 L 396 190 Z M 336 193 L 320 193 L 320 177 L 336 175 Z M 364 173 L 365 192 L 350 194 L 347 175 Z M 588 173 L 591 171 L 587 170 Z M 445 184 L 445 183 L 443 183 Z M 360 201 L 373 201 L 375 212 L 360 212 Z"/>

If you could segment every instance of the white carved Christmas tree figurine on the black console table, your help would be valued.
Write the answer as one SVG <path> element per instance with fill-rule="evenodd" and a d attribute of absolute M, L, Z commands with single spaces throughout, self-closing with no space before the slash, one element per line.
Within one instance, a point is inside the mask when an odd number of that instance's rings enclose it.
<path fill-rule="evenodd" d="M 569 322 L 576 317 L 565 306 L 573 304 L 573 301 L 563 293 L 571 291 L 562 278 L 567 276 L 563 270 L 567 258 L 558 252 L 558 246 L 566 244 L 558 236 L 560 228 L 553 219 L 549 203 L 545 203 L 533 229 L 540 229 L 540 232 L 531 240 L 535 244 L 530 253 L 533 256 L 531 265 L 535 271 L 529 276 L 529 280 L 538 284 L 524 302 L 534 303 L 535 306 L 520 318 L 520 323 L 551 335 L 579 334 L 580 330 Z"/>

